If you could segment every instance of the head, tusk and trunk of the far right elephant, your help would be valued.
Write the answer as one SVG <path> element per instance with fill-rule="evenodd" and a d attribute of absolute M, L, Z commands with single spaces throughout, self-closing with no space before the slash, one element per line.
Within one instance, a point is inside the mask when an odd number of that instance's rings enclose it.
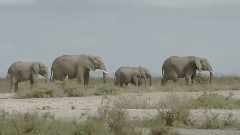
<path fill-rule="evenodd" d="M 196 67 L 199 71 L 209 71 L 210 73 L 210 83 L 212 82 L 213 70 L 207 59 L 196 58 Z"/>

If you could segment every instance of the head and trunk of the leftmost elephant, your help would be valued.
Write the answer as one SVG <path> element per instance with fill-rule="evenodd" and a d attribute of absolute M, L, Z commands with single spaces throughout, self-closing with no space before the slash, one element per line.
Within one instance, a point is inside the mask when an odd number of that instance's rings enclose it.
<path fill-rule="evenodd" d="M 44 64 L 42 64 L 40 62 L 34 62 L 30 67 L 30 71 L 31 71 L 31 76 L 32 76 L 33 80 L 36 80 L 37 76 L 39 74 L 39 75 L 43 76 L 45 79 L 45 82 L 47 82 L 48 68 Z"/>

